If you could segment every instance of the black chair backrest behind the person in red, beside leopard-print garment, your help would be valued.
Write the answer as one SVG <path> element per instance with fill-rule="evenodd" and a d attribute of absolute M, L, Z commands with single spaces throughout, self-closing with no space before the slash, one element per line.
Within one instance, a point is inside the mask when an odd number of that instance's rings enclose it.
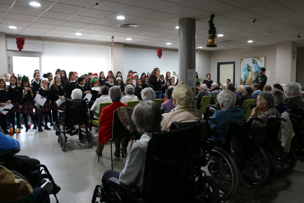
<path fill-rule="evenodd" d="M 112 137 L 110 140 L 130 137 L 132 137 L 131 133 L 120 122 L 117 111 L 115 110 L 113 115 Z"/>

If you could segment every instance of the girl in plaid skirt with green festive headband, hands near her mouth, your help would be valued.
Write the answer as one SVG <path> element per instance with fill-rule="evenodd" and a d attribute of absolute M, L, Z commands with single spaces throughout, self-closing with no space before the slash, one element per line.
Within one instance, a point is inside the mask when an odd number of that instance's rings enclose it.
<path fill-rule="evenodd" d="M 22 89 L 22 99 L 21 99 L 21 104 L 22 104 L 22 117 L 24 121 L 24 125 L 26 128 L 26 132 L 29 130 L 29 126 L 27 124 L 27 115 L 29 115 L 32 118 L 34 127 L 33 129 L 37 129 L 36 127 L 36 119 L 34 118 L 34 112 L 33 112 L 33 98 L 34 98 L 34 88 L 31 87 L 29 84 L 29 78 L 26 77 L 25 75 L 20 79 L 21 84 L 20 87 Z"/>

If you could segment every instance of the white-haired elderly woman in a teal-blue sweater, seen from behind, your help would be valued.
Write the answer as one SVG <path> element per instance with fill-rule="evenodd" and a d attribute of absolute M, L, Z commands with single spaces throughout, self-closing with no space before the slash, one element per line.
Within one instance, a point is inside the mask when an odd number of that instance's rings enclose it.
<path fill-rule="evenodd" d="M 218 96 L 219 106 L 221 110 L 216 111 L 211 118 L 217 121 L 217 124 L 212 123 L 210 120 L 208 124 L 210 125 L 212 134 L 218 135 L 221 139 L 225 138 L 228 123 L 231 120 L 238 121 L 240 123 L 245 123 L 245 114 L 241 109 L 233 108 L 237 97 L 230 90 L 222 90 Z M 208 138 L 212 142 L 221 142 L 221 139 L 211 136 Z"/>

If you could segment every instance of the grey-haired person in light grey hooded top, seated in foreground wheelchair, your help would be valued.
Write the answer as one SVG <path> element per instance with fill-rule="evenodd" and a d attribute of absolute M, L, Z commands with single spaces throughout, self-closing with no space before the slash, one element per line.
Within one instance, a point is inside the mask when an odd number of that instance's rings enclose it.
<path fill-rule="evenodd" d="M 149 119 L 146 119 L 147 116 Z M 102 185 L 104 191 L 109 190 L 110 177 L 119 178 L 119 182 L 122 184 L 137 186 L 142 191 L 147 146 L 152 133 L 161 130 L 161 109 L 159 104 L 151 100 L 140 102 L 133 110 L 132 121 L 136 124 L 137 130 L 143 135 L 135 142 L 128 153 L 125 167 L 121 173 L 107 170 L 103 174 Z M 100 199 L 100 201 L 106 201 L 106 197 Z"/>

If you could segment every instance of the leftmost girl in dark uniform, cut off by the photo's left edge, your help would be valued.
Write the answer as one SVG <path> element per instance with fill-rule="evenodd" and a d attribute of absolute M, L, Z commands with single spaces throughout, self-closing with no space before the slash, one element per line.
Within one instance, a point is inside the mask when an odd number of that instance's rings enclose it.
<path fill-rule="evenodd" d="M 7 89 L 5 80 L 0 78 L 0 105 L 5 107 L 5 103 L 11 103 L 9 100 L 9 89 Z M 9 131 L 6 129 L 8 114 L 0 113 L 0 125 L 4 134 L 9 134 Z"/>

